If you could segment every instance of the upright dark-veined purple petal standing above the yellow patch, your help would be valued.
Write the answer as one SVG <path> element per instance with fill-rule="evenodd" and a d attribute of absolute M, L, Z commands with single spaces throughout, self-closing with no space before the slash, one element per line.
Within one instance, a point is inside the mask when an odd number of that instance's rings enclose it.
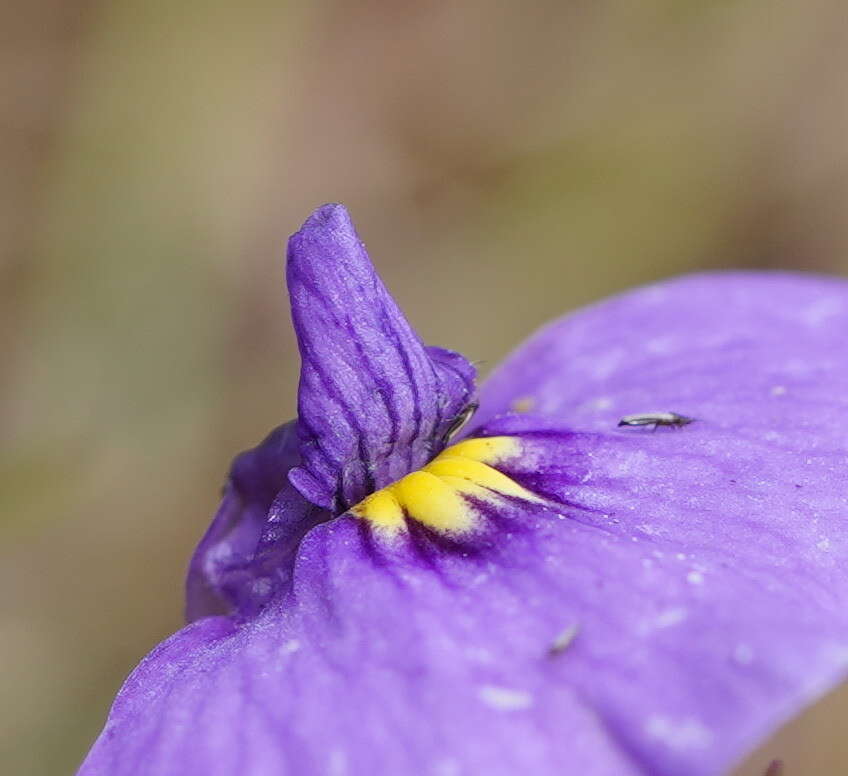
<path fill-rule="evenodd" d="M 292 236 L 287 277 L 303 458 L 289 479 L 341 511 L 438 452 L 474 370 L 459 354 L 425 348 L 341 205 L 319 208 Z"/>

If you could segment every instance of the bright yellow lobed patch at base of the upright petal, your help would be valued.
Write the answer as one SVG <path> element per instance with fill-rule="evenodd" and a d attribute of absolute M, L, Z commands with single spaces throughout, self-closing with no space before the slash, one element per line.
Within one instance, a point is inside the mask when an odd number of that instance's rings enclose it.
<path fill-rule="evenodd" d="M 404 530 L 407 519 L 439 533 L 467 533 L 479 518 L 465 496 L 489 503 L 503 496 L 542 501 L 493 466 L 520 451 L 521 444 L 513 437 L 467 439 L 446 448 L 419 471 L 372 493 L 350 511 L 384 533 Z"/>

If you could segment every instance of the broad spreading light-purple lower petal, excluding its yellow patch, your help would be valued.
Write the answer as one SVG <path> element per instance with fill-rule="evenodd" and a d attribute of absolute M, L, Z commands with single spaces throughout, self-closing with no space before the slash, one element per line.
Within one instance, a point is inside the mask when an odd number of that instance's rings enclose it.
<path fill-rule="evenodd" d="M 780 276 L 548 327 L 479 429 L 545 504 L 466 545 L 318 525 L 258 617 L 141 664 L 82 773 L 725 772 L 848 665 L 846 334 L 845 284 Z M 648 410 L 698 420 L 616 428 Z"/>

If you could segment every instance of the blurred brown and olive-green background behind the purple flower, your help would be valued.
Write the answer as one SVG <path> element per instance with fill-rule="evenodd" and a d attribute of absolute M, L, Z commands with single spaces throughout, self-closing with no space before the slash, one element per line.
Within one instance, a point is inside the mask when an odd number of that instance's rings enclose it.
<path fill-rule="evenodd" d="M 432 343 L 848 270 L 841 0 L 31 0 L 0 23 L 0 755 L 70 773 L 294 414 L 284 246 L 351 209 Z M 791 613 L 787 613 L 791 616 Z M 829 699 L 768 752 L 848 770 Z M 841 763 L 841 765 L 840 765 Z"/>

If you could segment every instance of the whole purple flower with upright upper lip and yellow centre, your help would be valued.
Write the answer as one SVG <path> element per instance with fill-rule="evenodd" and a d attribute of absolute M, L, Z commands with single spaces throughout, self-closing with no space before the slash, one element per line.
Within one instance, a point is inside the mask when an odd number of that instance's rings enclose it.
<path fill-rule="evenodd" d="M 292 239 L 298 419 L 233 464 L 95 774 L 724 773 L 848 666 L 848 287 L 683 278 L 481 388 L 346 211 Z M 685 428 L 618 428 L 675 411 Z"/>

